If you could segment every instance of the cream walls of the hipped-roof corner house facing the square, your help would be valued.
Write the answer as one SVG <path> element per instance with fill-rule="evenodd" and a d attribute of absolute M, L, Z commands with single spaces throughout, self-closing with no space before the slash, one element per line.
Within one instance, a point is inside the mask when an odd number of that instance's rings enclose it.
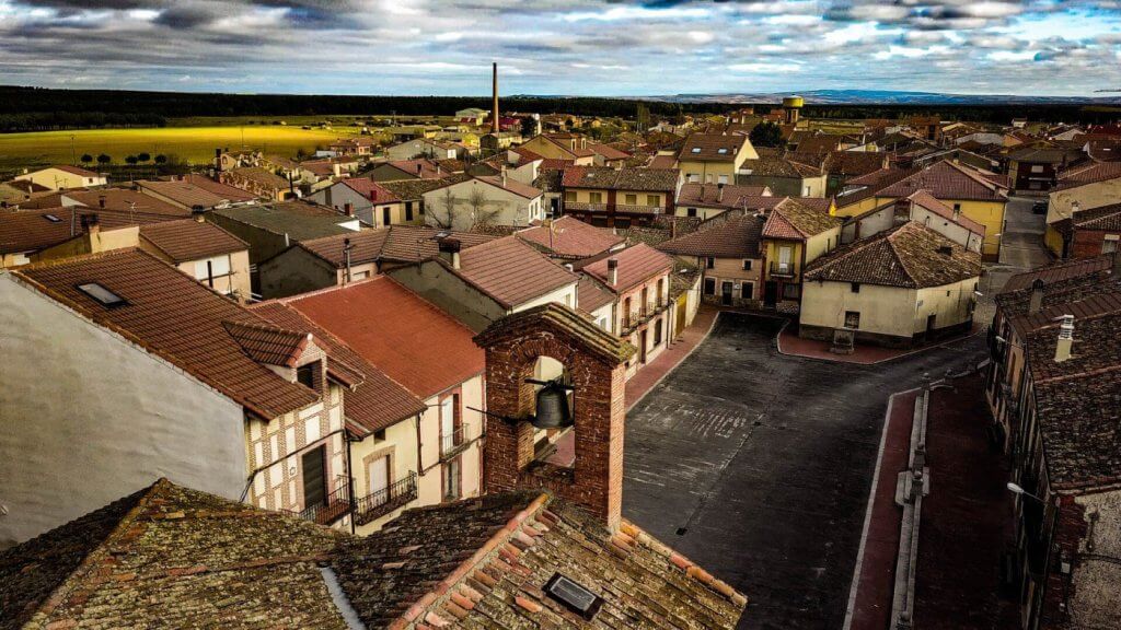
<path fill-rule="evenodd" d="M 973 291 L 978 278 L 914 289 L 834 281 L 807 281 L 803 285 L 803 328 L 823 328 L 827 339 L 833 330 L 852 330 L 861 337 L 896 337 L 910 342 L 915 335 L 967 324 L 973 318 Z M 852 314 L 859 314 L 853 324 Z"/>

